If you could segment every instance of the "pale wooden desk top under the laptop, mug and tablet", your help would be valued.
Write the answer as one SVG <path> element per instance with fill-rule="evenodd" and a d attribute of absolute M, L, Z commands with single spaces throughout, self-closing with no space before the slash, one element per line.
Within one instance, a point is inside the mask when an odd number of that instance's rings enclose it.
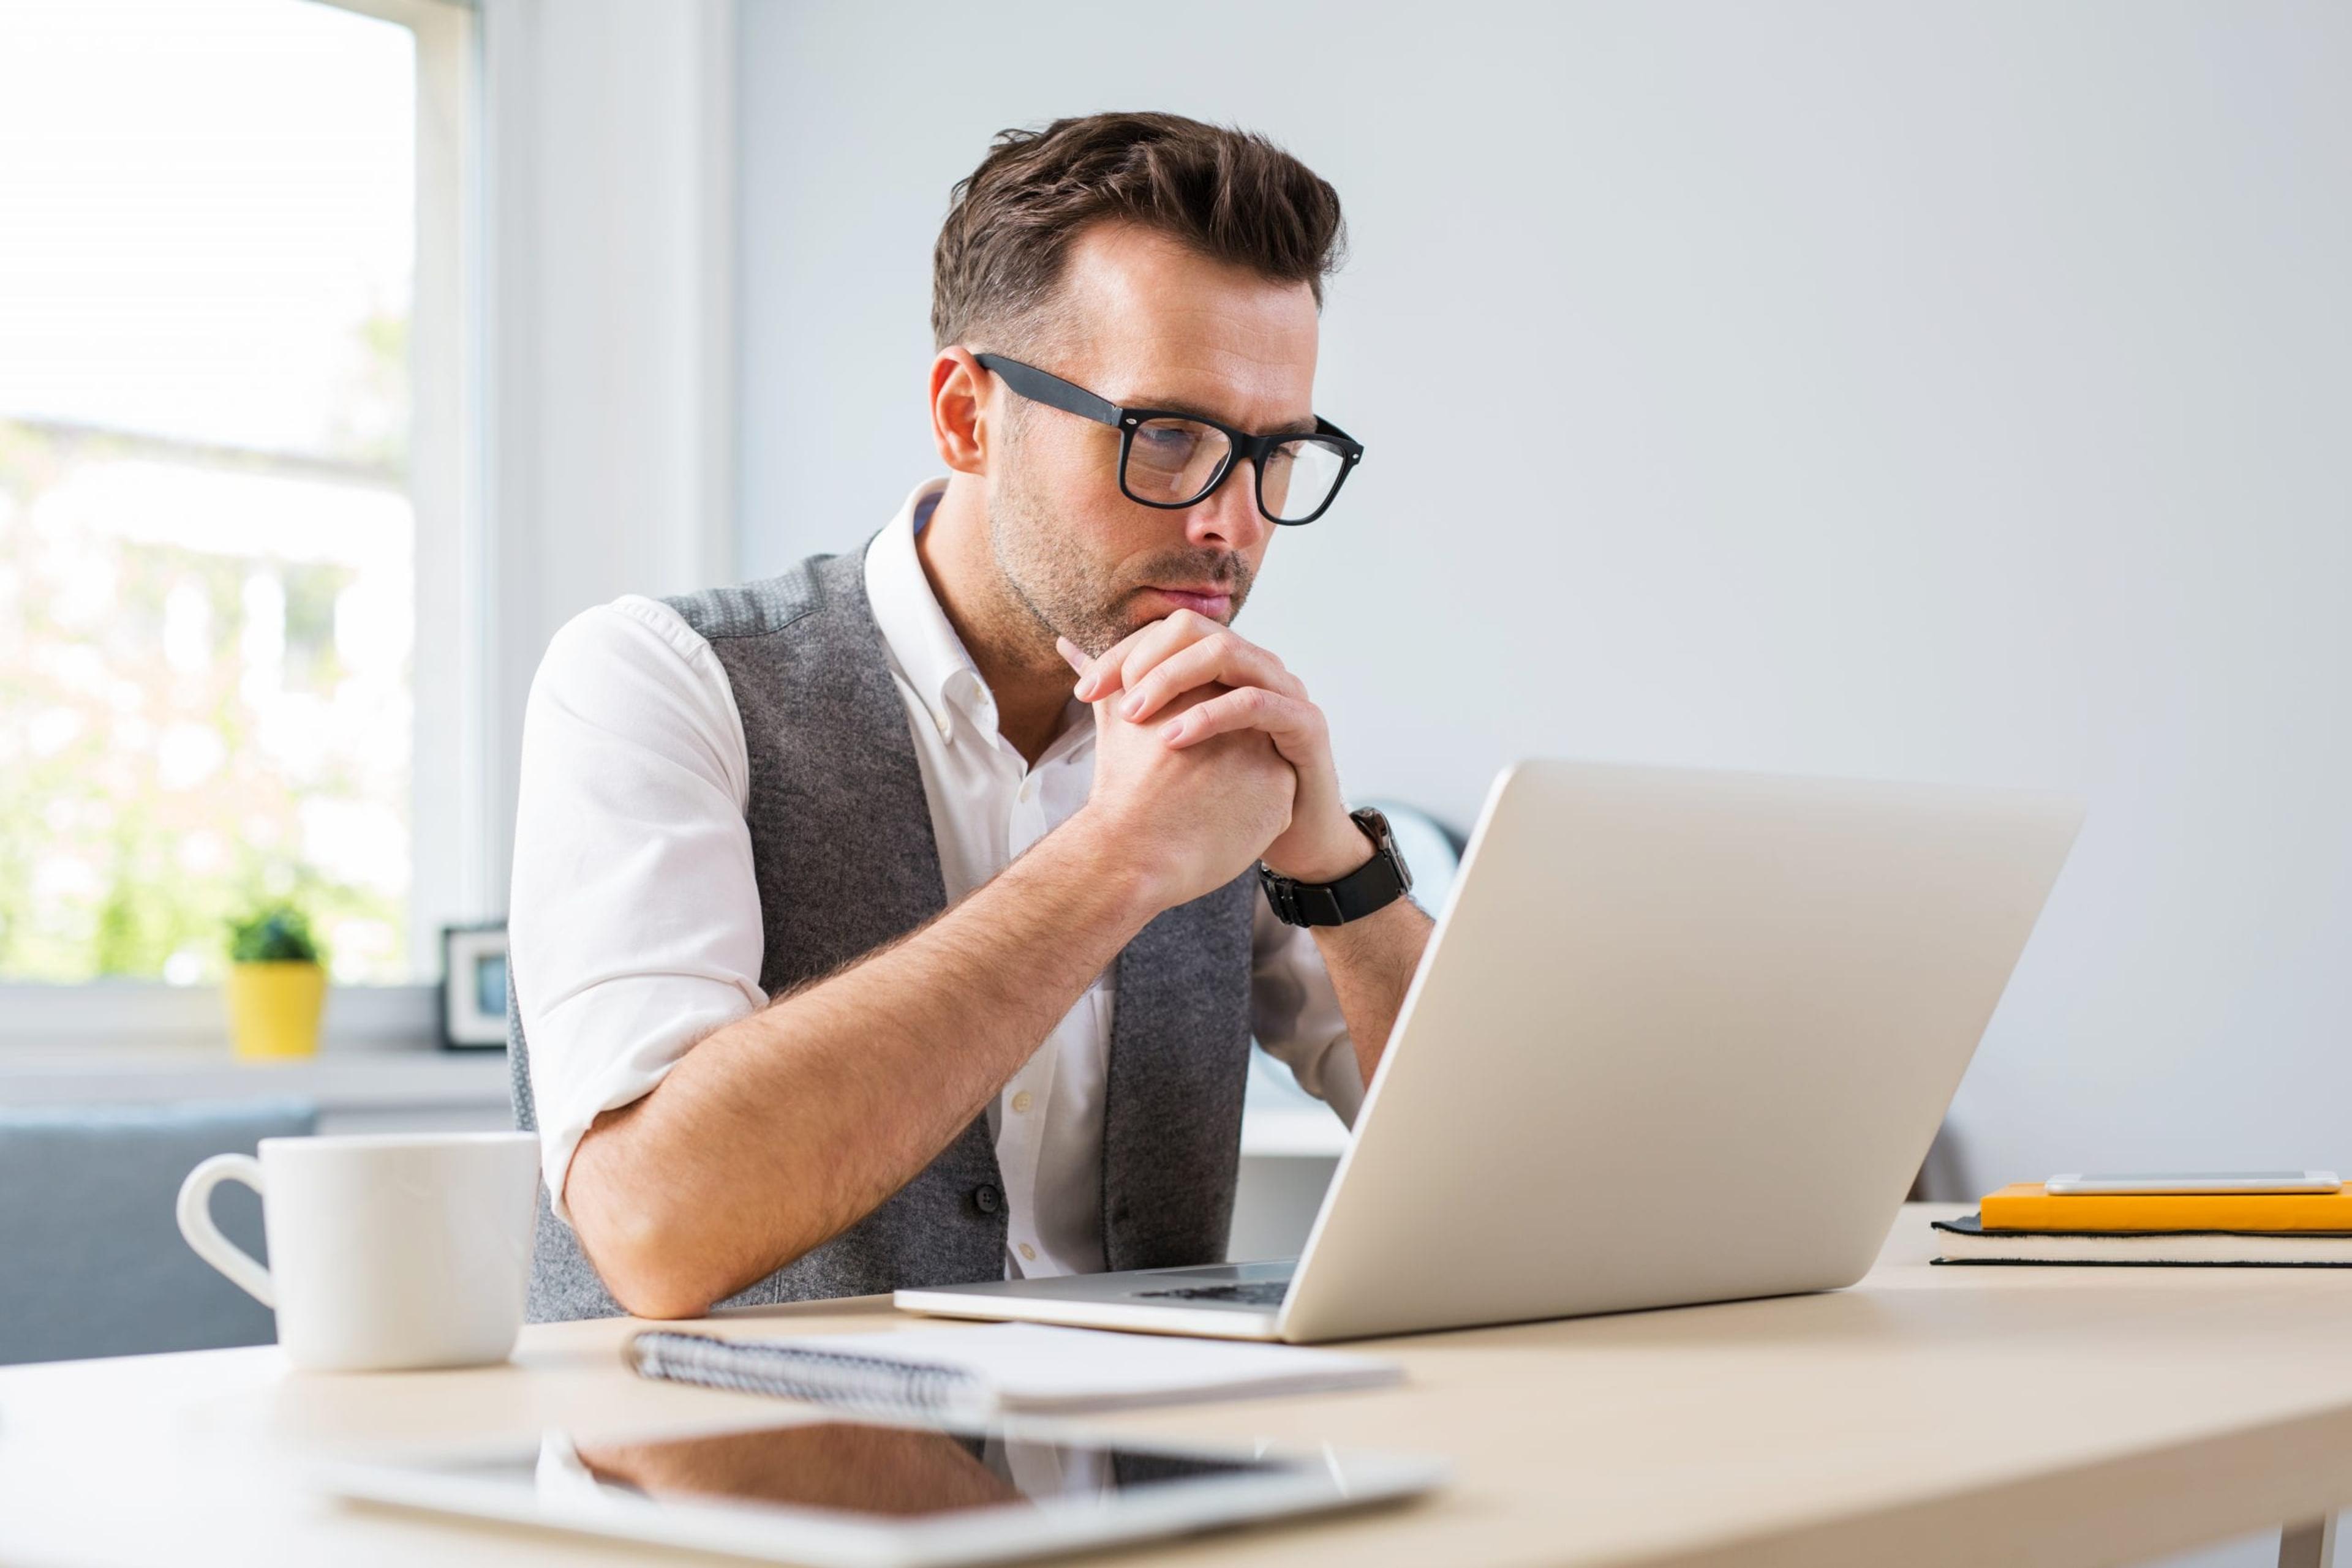
<path fill-rule="evenodd" d="M 1926 1251 L 1912 1208 L 1853 1291 L 1388 1340 L 1404 1387 L 1124 1415 L 1435 1450 L 1456 1481 L 1120 1561 L 2063 1568 L 2352 1502 L 2352 1272 L 1936 1269 Z M 873 1300 L 713 1326 L 779 1321 L 927 1328 Z M 369 1441 L 757 1408 L 633 1380 L 630 1328 L 532 1328 L 515 1366 L 461 1373 L 296 1375 L 275 1347 L 0 1368 L 0 1561 L 652 1563 L 341 1507 L 287 1474 Z"/>

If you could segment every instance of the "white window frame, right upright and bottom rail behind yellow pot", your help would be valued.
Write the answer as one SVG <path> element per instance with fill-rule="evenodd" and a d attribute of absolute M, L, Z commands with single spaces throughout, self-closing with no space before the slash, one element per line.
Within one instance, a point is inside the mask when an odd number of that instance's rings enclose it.
<path fill-rule="evenodd" d="M 313 0 L 416 40 L 416 284 L 409 475 L 416 637 L 409 656 L 409 952 L 503 910 L 494 867 L 492 550 L 482 508 L 482 28 L 466 0 Z M 428 388 L 433 393 L 428 395 Z M 0 1053 L 226 1048 L 219 985 L 0 980 Z M 430 1046 L 440 980 L 329 987 L 322 1048 Z"/>

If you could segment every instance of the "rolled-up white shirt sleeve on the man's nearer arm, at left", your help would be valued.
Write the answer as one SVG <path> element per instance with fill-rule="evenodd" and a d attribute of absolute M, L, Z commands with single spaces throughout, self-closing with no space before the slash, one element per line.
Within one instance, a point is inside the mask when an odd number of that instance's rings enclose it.
<path fill-rule="evenodd" d="M 567 1225 L 588 1124 L 767 1001 L 746 795 L 727 672 L 673 609 L 626 597 L 555 635 L 522 719 L 508 943 Z"/>

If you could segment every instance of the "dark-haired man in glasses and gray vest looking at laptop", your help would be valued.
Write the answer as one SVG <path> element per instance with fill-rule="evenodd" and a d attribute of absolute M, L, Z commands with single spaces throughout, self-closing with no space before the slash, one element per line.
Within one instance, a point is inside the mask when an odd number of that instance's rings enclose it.
<path fill-rule="evenodd" d="M 1359 456 L 1312 409 L 1338 242 L 1263 139 L 1007 132 L 934 261 L 948 477 L 856 555 L 555 637 L 534 1316 L 1207 1262 L 1249 1037 L 1355 1114 L 1430 922 L 1228 630 Z"/>

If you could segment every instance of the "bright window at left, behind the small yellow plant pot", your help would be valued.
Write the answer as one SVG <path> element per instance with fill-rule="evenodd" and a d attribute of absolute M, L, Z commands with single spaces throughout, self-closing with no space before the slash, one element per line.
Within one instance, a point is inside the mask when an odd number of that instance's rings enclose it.
<path fill-rule="evenodd" d="M 0 9 L 0 983 L 475 912 L 468 71 L 445 0 Z"/>

